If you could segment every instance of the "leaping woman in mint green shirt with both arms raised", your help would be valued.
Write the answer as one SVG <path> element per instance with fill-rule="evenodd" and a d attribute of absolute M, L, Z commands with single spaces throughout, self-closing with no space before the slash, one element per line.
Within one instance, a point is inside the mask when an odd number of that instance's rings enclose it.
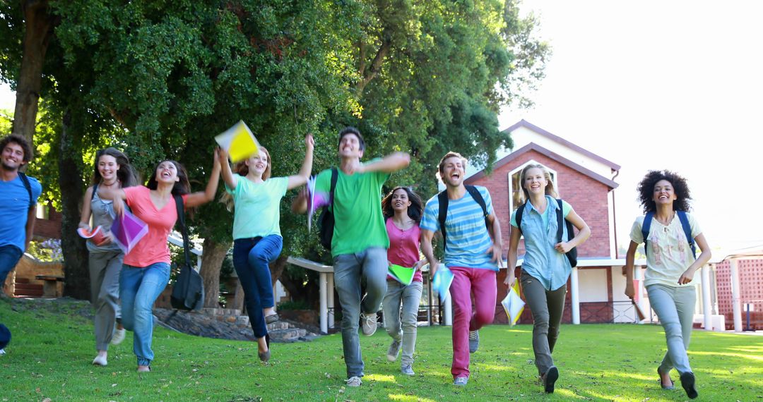
<path fill-rule="evenodd" d="M 267 324 L 278 321 L 275 313 L 269 263 L 281 254 L 283 238 L 279 222 L 280 203 L 286 190 L 307 183 L 313 167 L 313 136 L 304 137 L 305 154 L 299 173 L 289 177 L 270 177 L 268 151 L 259 152 L 230 170 L 227 152 L 220 152 L 222 174 L 227 193 L 235 206 L 233 212 L 233 268 L 236 270 L 246 301 L 258 356 L 270 359 Z"/>

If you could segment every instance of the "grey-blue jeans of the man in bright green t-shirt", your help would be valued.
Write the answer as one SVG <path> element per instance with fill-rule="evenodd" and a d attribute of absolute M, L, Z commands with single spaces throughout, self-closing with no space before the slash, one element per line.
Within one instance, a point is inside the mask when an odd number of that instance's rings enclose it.
<path fill-rule="evenodd" d="M 376 314 L 387 293 L 387 249 L 369 247 L 333 259 L 334 288 L 342 305 L 342 346 L 347 378 L 363 376 L 358 327 L 360 311 Z M 362 286 L 365 285 L 365 297 Z"/>

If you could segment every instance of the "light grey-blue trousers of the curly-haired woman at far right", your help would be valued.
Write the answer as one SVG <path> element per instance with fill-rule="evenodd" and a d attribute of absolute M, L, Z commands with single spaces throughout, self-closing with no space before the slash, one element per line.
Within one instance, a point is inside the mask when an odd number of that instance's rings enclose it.
<path fill-rule="evenodd" d="M 668 342 L 668 353 L 662 359 L 659 370 L 662 373 L 671 369 L 679 373 L 691 372 L 689 349 L 691 328 L 694 321 L 694 302 L 697 294 L 694 286 L 665 286 L 649 285 L 649 304 L 652 305 L 660 324 L 665 330 L 665 340 Z"/>

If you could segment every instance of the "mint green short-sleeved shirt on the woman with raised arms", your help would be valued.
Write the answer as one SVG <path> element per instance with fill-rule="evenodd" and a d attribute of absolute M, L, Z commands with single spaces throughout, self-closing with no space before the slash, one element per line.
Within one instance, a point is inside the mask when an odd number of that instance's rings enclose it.
<path fill-rule="evenodd" d="M 288 177 L 271 177 L 253 183 L 236 175 L 236 188 L 225 190 L 233 195 L 233 239 L 281 235 L 281 198 L 286 194 Z"/>

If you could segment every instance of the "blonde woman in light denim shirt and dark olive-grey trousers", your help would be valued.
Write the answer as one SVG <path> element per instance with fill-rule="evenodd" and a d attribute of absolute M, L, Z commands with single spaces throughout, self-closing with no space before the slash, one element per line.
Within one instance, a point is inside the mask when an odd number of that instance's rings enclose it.
<path fill-rule="evenodd" d="M 517 212 L 511 215 L 512 230 L 507 256 L 509 269 L 504 283 L 511 287 L 516 279 L 517 245 L 520 236 L 524 235 L 525 255 L 520 282 L 527 305 L 533 313 L 535 365 L 546 392 L 552 393 L 559 378 L 559 369 L 555 367 L 551 353 L 559 336 L 567 279 L 572 271 L 565 253 L 588 239 L 591 229 L 568 203 L 562 201 L 562 214 L 578 228 L 578 235 L 571 241 L 557 242 L 559 223 L 556 210 L 559 204 L 555 199 L 557 195 L 551 175 L 539 164 L 528 164 L 522 170 L 520 183 L 526 202 L 520 206 L 524 209 L 521 228 L 517 226 Z M 563 230 L 562 238 L 567 238 L 566 228 Z"/>

